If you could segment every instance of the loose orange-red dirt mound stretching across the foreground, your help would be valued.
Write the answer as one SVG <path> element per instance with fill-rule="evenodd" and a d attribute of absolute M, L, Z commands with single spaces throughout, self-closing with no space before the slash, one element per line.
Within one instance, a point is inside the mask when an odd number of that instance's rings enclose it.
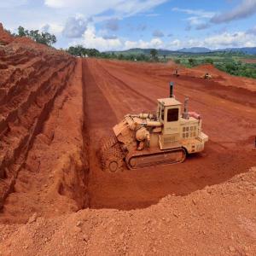
<path fill-rule="evenodd" d="M 33 214 L 1 225 L 10 255 L 254 255 L 256 169 L 143 210 L 83 210 L 60 218 Z M 231 202 L 231 203 L 230 203 Z M 250 210 L 249 210 L 250 209 Z"/>

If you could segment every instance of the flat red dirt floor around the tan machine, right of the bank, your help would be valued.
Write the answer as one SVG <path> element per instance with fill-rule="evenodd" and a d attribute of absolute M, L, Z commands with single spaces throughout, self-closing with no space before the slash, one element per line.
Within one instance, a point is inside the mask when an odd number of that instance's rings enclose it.
<path fill-rule="evenodd" d="M 217 82 L 162 76 L 172 70 L 160 65 L 84 60 L 83 71 L 90 131 L 90 207 L 148 207 L 166 195 L 188 195 L 207 185 L 224 183 L 255 165 L 254 93 L 247 91 L 244 97 L 240 89 Z M 157 98 L 168 96 L 170 80 L 175 82 L 177 99 L 189 96 L 190 110 L 201 113 L 204 131 L 210 137 L 206 151 L 181 165 L 114 175 L 102 172 L 96 154 L 99 138 L 111 133 L 126 113 L 153 110 Z"/>

